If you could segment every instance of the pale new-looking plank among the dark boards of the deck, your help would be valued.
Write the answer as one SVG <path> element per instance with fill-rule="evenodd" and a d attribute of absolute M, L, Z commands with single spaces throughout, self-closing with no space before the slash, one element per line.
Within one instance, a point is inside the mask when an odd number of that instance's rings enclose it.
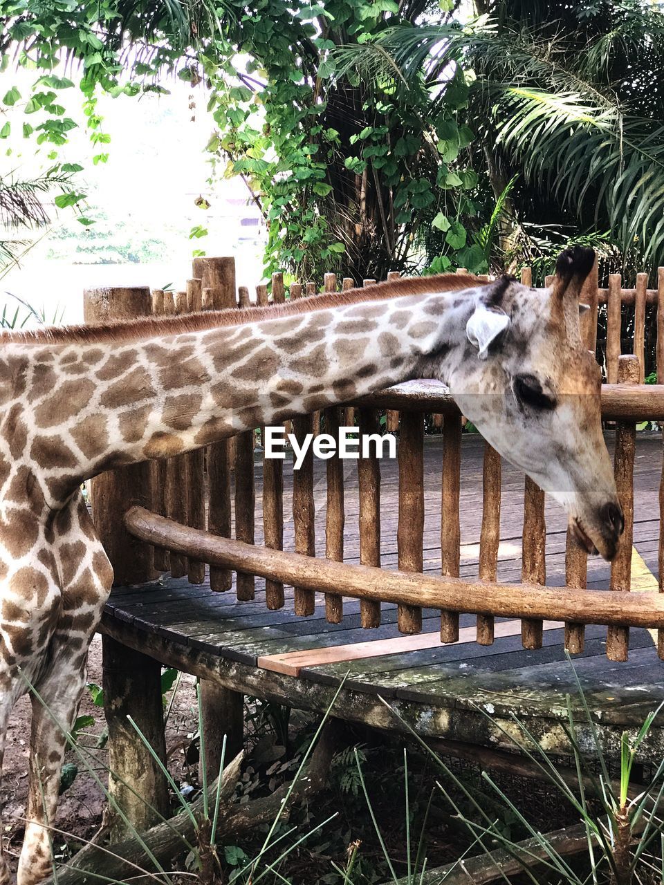
<path fill-rule="evenodd" d="M 560 630 L 561 627 L 562 624 L 559 621 L 546 621 L 545 629 L 547 630 Z M 496 635 L 498 636 L 513 636 L 520 632 L 521 625 L 516 620 L 500 621 L 496 625 Z M 474 642 L 475 627 L 465 627 L 463 630 L 459 630 L 459 639 L 454 643 L 446 644 L 456 645 Z M 382 658 L 385 655 L 399 654 L 404 651 L 433 649 L 439 646 L 440 643 L 440 634 L 436 631 L 436 633 L 399 636 L 396 639 L 377 639 L 367 643 L 352 643 L 350 645 L 289 651 L 278 655 L 260 655 L 258 666 L 264 670 L 272 670 L 274 673 L 298 676 L 303 667 L 337 664 L 340 661 Z"/>

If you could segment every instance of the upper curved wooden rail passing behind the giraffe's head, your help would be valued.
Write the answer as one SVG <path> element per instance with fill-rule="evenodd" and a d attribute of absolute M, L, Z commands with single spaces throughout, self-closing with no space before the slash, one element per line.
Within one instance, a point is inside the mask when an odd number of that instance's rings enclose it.
<path fill-rule="evenodd" d="M 353 405 L 459 414 L 452 394 L 446 390 L 438 381 L 405 381 L 404 384 L 364 396 Z M 664 420 L 664 384 L 645 384 L 642 387 L 603 384 L 602 417 L 621 421 Z"/>

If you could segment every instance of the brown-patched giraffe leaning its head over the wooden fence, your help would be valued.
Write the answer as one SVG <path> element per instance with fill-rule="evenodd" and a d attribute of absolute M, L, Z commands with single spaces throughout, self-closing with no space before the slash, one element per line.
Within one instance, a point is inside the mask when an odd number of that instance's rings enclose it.
<path fill-rule="evenodd" d="M 0 765 L 12 704 L 27 682 L 41 697 L 19 885 L 50 873 L 60 727 L 72 725 L 112 585 L 81 482 L 436 378 L 502 455 L 567 507 L 580 543 L 612 558 L 622 512 L 599 370 L 579 335 L 592 260 L 591 250 L 563 253 L 552 289 L 448 274 L 267 310 L 2 335 Z M 2 858 L 0 885 L 9 878 Z"/>

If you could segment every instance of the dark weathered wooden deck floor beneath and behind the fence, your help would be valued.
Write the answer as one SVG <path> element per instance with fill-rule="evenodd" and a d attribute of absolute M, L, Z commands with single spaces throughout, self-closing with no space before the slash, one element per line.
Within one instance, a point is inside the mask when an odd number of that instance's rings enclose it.
<path fill-rule="evenodd" d="M 611 445 L 611 439 L 608 437 Z M 659 539 L 660 435 L 639 435 L 635 465 L 635 550 L 633 589 L 656 589 Z M 442 438 L 428 437 L 425 458 L 427 519 L 424 570 L 440 571 L 440 495 Z M 464 437 L 461 464 L 461 576 L 476 577 L 482 517 L 483 441 Z M 359 561 L 357 471 L 346 464 L 345 560 Z M 257 535 L 262 543 L 260 484 L 256 465 Z M 284 467 L 284 513 L 291 512 L 290 466 Z M 523 474 L 504 463 L 498 580 L 521 578 Z M 397 567 L 397 465 L 382 462 L 382 566 Z M 324 555 L 325 463 L 315 463 L 317 548 Z M 286 550 L 293 549 L 292 519 L 285 519 Z M 564 583 L 566 518 L 547 502 L 547 584 Z M 606 588 L 609 569 L 591 558 L 588 586 Z M 340 588 L 343 592 L 343 588 Z M 562 646 L 561 625 L 544 625 L 544 647 L 521 648 L 518 621 L 498 620 L 496 642 L 475 643 L 475 619 L 461 617 L 459 643 L 441 645 L 439 612 L 425 610 L 423 632 L 403 637 L 396 627 L 396 607 L 384 604 L 382 626 L 359 626 L 359 602 L 345 600 L 344 619 L 325 620 L 322 596 L 312 617 L 292 614 L 292 589 L 279 612 L 265 606 L 264 582 L 256 580 L 256 599 L 239 603 L 233 591 L 214 594 L 207 584 L 190 586 L 165 576 L 149 586 L 113 590 L 102 631 L 164 664 L 219 681 L 227 688 L 305 709 L 325 710 L 342 681 L 336 714 L 378 727 L 404 730 L 405 723 L 423 736 L 508 747 L 513 715 L 526 721 L 546 748 L 567 750 L 563 724 L 566 695 L 576 718 L 582 708 L 575 676 Z M 359 643 L 362 643 L 359 645 Z M 606 659 L 606 627 L 587 627 L 583 655 L 575 671 L 590 704 L 599 735 L 617 754 L 623 727 L 638 727 L 647 712 L 664 701 L 664 663 L 652 636 L 632 630 L 629 661 Z M 390 704 L 392 710 L 386 704 Z M 400 719 L 399 719 L 400 717 Z M 581 725 L 582 741 L 590 727 Z M 590 747 L 590 743 L 588 744 Z M 654 728 L 648 749 L 664 753 L 664 729 Z"/>

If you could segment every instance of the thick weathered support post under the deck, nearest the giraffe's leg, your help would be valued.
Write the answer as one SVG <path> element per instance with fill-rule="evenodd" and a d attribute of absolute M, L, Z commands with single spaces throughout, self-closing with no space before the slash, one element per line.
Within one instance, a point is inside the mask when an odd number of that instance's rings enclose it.
<path fill-rule="evenodd" d="M 154 658 L 128 649 L 109 636 L 102 637 L 102 648 L 108 789 L 129 823 L 141 832 L 157 823 L 159 815 L 168 815 L 168 783 L 127 716 L 166 764 L 161 666 Z M 124 821 L 113 813 L 112 841 L 125 835 Z"/>

